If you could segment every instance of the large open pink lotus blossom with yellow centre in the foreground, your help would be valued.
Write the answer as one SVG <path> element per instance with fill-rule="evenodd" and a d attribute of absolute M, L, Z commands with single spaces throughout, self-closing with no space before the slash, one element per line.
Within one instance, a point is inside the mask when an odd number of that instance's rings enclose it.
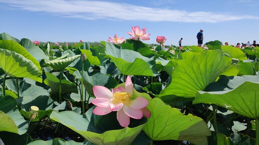
<path fill-rule="evenodd" d="M 95 85 L 93 93 L 96 97 L 92 100 L 92 103 L 96 105 L 93 113 L 105 115 L 111 111 L 117 111 L 117 120 L 123 127 L 130 124 L 130 117 L 141 119 L 143 115 L 148 118 L 151 115 L 146 108 L 149 102 L 145 97 L 139 96 L 133 99 L 133 84 L 130 76 L 126 78 L 125 88 L 119 86 L 110 91 L 104 86 Z"/>

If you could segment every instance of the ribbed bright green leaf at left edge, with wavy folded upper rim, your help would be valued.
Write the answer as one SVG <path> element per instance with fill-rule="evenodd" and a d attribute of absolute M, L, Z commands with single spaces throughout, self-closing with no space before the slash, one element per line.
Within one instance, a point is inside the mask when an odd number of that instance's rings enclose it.
<path fill-rule="evenodd" d="M 0 48 L 0 67 L 9 76 L 28 77 L 42 82 L 42 78 L 38 77 L 42 74 L 41 69 L 17 52 Z"/>

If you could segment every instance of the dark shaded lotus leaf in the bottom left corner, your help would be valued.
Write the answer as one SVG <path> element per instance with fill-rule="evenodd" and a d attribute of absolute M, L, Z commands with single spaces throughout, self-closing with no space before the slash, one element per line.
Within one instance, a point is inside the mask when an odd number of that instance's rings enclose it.
<path fill-rule="evenodd" d="M 22 135 L 12 133 L 12 132 L 0 132 L 0 138 L 3 140 L 5 145 L 26 145 L 32 141 L 32 138 L 29 134 L 24 133 Z"/>

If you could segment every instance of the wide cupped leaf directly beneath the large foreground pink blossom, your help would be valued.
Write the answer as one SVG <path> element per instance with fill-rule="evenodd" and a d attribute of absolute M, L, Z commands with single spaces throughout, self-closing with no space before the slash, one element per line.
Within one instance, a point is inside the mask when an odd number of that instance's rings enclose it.
<path fill-rule="evenodd" d="M 131 144 L 145 126 L 147 119 L 131 119 L 125 128 L 118 124 L 116 112 L 95 115 L 93 107 L 80 115 L 73 111 L 52 112 L 50 118 L 69 127 L 94 144 Z"/>

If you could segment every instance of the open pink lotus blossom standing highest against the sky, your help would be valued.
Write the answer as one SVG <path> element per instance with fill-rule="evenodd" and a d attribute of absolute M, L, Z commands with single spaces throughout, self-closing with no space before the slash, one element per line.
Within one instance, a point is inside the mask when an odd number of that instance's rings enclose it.
<path fill-rule="evenodd" d="M 140 29 L 139 26 L 132 26 L 132 32 L 127 32 L 128 34 L 132 35 L 131 39 L 135 40 L 149 40 L 150 33 L 146 33 L 146 27 Z"/>

